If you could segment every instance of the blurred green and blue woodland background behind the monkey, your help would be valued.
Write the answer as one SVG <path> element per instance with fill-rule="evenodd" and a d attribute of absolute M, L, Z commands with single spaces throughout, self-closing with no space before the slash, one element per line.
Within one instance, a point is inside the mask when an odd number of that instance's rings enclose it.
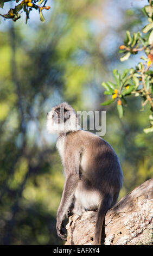
<path fill-rule="evenodd" d="M 77 111 L 106 111 L 106 135 L 124 172 L 120 198 L 151 178 L 152 135 L 149 107 L 129 97 L 119 119 L 105 100 L 101 82 L 112 70 L 135 66 L 139 54 L 120 63 L 118 48 L 126 30 L 137 32 L 147 23 L 141 8 L 147 0 L 48 0 L 46 22 L 33 11 L 17 22 L 0 25 L 0 243 L 60 245 L 56 235 L 64 176 L 46 131 L 46 114 L 67 101 Z M 5 4 L 7 13 L 10 3 Z M 7 11 L 6 11 L 7 10 Z"/>

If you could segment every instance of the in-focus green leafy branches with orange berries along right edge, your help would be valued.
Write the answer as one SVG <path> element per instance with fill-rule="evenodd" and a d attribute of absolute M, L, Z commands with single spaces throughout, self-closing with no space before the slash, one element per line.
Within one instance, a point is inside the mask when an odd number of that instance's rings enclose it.
<path fill-rule="evenodd" d="M 125 69 L 123 74 L 119 74 L 117 69 L 113 70 L 113 75 L 116 83 L 103 82 L 101 85 L 106 89 L 105 95 L 112 95 L 111 100 L 101 103 L 102 106 L 111 104 L 117 101 L 117 109 L 119 117 L 124 115 L 124 108 L 127 106 L 127 96 L 135 95 L 141 97 L 142 109 L 146 103 L 150 104 L 150 110 L 153 113 L 153 71 L 151 70 L 153 62 L 153 1 L 149 1 L 149 5 L 143 8 L 143 13 L 148 17 L 149 24 L 146 25 L 142 32 L 131 33 L 126 31 L 126 40 L 124 45 L 120 45 L 120 53 L 124 55 L 120 58 L 121 62 L 129 59 L 131 54 L 136 55 L 138 52 L 143 52 L 141 59 L 144 62 L 139 62 L 135 68 Z M 149 114 L 150 127 L 144 129 L 145 133 L 153 132 L 153 115 Z"/>

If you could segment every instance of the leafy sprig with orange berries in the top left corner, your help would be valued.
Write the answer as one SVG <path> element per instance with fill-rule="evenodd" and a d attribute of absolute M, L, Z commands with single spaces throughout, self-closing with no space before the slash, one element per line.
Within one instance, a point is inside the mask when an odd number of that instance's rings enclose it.
<path fill-rule="evenodd" d="M 8 1 L 0 0 L 1 8 L 4 7 L 4 2 L 8 2 Z M 20 2 L 20 0 L 16 0 L 16 3 L 18 2 Z M 36 10 L 39 10 L 40 20 L 44 22 L 45 19 L 42 14 L 42 10 L 50 9 L 49 6 L 46 6 L 46 3 L 47 3 L 47 0 L 23 0 L 17 5 L 15 5 L 14 8 L 10 8 L 7 14 L 3 14 L 3 15 L 0 14 L 0 15 L 4 17 L 4 19 L 12 19 L 13 21 L 17 21 L 18 19 L 21 18 L 21 13 L 24 11 L 24 13 L 26 14 L 25 23 L 27 23 L 28 19 L 30 19 L 29 18 L 30 11 L 32 11 L 33 9 L 36 9 Z"/>

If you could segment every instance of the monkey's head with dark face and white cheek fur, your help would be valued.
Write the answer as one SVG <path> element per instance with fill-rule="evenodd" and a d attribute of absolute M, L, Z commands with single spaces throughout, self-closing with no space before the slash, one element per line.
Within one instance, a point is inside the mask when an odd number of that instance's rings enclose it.
<path fill-rule="evenodd" d="M 47 114 L 47 131 L 49 133 L 67 133 L 80 130 L 79 121 L 74 108 L 67 102 L 52 108 Z"/>

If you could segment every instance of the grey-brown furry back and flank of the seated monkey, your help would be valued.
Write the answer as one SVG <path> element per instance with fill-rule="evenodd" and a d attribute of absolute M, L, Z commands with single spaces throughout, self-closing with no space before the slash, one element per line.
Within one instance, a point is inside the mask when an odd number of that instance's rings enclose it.
<path fill-rule="evenodd" d="M 70 132 L 65 139 L 66 143 L 71 143 L 72 154 L 74 149 L 80 153 L 80 179 L 85 186 L 118 195 L 123 172 L 111 145 L 93 133 L 82 130 Z"/>

